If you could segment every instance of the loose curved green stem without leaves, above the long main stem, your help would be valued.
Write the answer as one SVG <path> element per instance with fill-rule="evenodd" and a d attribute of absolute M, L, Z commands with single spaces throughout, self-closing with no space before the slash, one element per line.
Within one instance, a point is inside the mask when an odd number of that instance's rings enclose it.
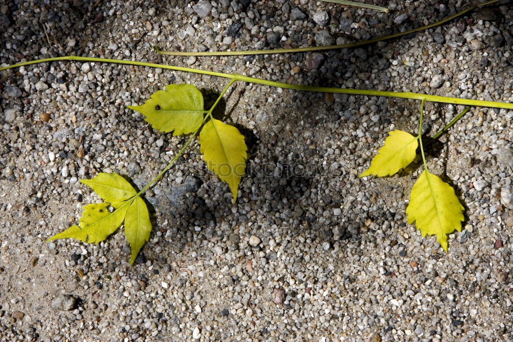
<path fill-rule="evenodd" d="M 312 51 L 324 51 L 324 50 L 333 50 L 333 49 L 347 49 L 353 48 L 362 45 L 373 44 L 381 41 L 386 41 L 389 39 L 394 39 L 401 37 L 403 35 L 407 35 L 410 33 L 415 33 L 423 30 L 430 29 L 432 27 L 436 27 L 442 24 L 445 24 L 459 16 L 462 16 L 465 13 L 468 13 L 476 8 L 484 7 L 493 3 L 498 2 L 499 0 L 490 0 L 482 4 L 477 4 L 471 6 L 461 12 L 448 16 L 442 19 L 439 22 L 429 24 L 426 26 L 418 27 L 415 29 L 411 29 L 404 32 L 398 32 L 394 34 L 385 35 L 382 37 L 377 37 L 373 39 L 369 39 L 367 41 L 361 41 L 356 43 L 347 43 L 347 44 L 339 44 L 339 45 L 325 45 L 325 46 L 308 46 L 302 48 L 294 48 L 294 49 L 270 49 L 270 50 L 248 50 L 248 51 L 206 51 L 206 52 L 187 52 L 187 51 L 165 51 L 161 50 L 158 46 L 153 46 L 155 51 L 160 54 L 171 55 L 171 56 L 234 56 L 234 55 L 248 55 L 248 54 L 279 54 L 279 53 L 297 53 L 297 52 L 312 52 Z"/>

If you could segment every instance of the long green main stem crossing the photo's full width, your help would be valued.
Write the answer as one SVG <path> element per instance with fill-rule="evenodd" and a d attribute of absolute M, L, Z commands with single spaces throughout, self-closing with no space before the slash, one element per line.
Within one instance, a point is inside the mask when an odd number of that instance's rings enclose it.
<path fill-rule="evenodd" d="M 151 67 L 151 68 L 161 68 L 161 69 L 168 69 L 168 70 L 175 70 L 175 71 L 193 72 L 193 73 L 199 73 L 199 74 L 204 74 L 204 75 L 211 75 L 211 76 L 215 76 L 215 77 L 226 78 L 226 79 L 232 80 L 233 82 L 241 81 L 241 82 L 262 84 L 262 85 L 267 85 L 267 86 L 271 86 L 271 87 L 293 89 L 293 90 L 300 90 L 300 91 L 331 92 L 331 93 L 355 94 L 355 95 L 366 95 L 366 96 L 384 96 L 384 97 L 394 97 L 394 98 L 412 99 L 412 100 L 425 100 L 425 101 L 430 101 L 430 102 L 452 103 L 452 104 L 465 105 L 465 106 L 481 106 L 481 107 L 513 109 L 513 103 L 505 103 L 505 102 L 450 98 L 450 97 L 445 97 L 445 96 L 420 94 L 420 93 L 416 93 L 416 92 L 394 92 L 394 91 L 380 91 L 380 90 L 363 90 L 363 89 L 304 86 L 304 85 L 297 85 L 297 84 L 267 81 L 267 80 L 262 80 L 262 79 L 258 79 L 258 78 L 243 76 L 240 74 L 229 74 L 229 73 L 223 73 L 223 72 L 185 68 L 185 67 L 179 67 L 179 66 L 173 66 L 173 65 L 147 63 L 147 62 L 139 62 L 139 61 L 129 61 L 129 60 L 115 60 L 115 59 L 108 59 L 108 58 L 81 57 L 81 56 L 73 56 L 73 55 L 62 56 L 62 57 L 52 57 L 52 58 L 45 58 L 45 59 L 40 59 L 40 60 L 17 63 L 17 64 L 13 64 L 13 65 L 0 67 L 0 71 L 11 69 L 11 68 L 17 68 L 17 67 L 21 67 L 21 66 L 25 66 L 25 65 L 38 64 L 38 63 L 44 63 L 44 62 L 55 62 L 55 61 L 81 61 L 81 62 L 100 62 L 100 63 L 138 65 L 138 66 L 147 66 L 147 67 Z"/>

